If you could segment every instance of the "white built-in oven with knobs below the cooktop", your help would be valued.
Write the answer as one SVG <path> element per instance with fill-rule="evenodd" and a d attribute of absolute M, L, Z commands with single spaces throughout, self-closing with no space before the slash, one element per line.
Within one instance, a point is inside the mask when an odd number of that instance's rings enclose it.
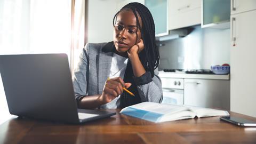
<path fill-rule="evenodd" d="M 184 104 L 184 79 L 161 77 L 163 101 L 162 103 L 170 103 L 175 105 Z"/>

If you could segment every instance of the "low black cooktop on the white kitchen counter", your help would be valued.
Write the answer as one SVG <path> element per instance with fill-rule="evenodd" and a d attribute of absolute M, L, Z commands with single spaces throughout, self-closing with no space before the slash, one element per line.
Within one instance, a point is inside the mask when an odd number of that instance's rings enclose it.
<path fill-rule="evenodd" d="M 164 69 L 164 72 L 179 72 L 183 71 L 186 74 L 209 74 L 213 75 L 214 73 L 210 69 Z"/>

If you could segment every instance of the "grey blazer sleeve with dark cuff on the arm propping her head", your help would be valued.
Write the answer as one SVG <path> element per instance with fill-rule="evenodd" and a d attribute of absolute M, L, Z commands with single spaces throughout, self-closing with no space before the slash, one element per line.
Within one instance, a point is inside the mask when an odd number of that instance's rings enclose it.
<path fill-rule="evenodd" d="M 150 101 L 161 103 L 163 100 L 163 91 L 161 78 L 158 76 L 158 68 L 154 70 L 154 77 L 147 71 L 140 77 L 133 77 L 142 102 Z"/>

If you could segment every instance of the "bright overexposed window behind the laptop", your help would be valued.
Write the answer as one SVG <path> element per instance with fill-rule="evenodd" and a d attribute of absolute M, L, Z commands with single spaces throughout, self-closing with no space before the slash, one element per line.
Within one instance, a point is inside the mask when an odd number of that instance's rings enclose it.
<path fill-rule="evenodd" d="M 71 0 L 1 0 L 0 54 L 67 53 Z M 70 58 L 70 57 L 69 57 Z M 0 79 L 0 124 L 11 115 Z"/>

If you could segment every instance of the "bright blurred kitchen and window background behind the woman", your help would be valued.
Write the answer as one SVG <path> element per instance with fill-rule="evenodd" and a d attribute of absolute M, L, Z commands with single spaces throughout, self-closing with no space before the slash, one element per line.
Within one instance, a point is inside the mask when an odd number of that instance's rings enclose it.
<path fill-rule="evenodd" d="M 67 53 L 73 71 L 86 43 L 113 41 L 113 17 L 130 2 L 153 14 L 163 103 L 256 117 L 255 0 L 0 0 L 0 54 Z M 0 109 L 2 123 L 1 79 Z"/>

